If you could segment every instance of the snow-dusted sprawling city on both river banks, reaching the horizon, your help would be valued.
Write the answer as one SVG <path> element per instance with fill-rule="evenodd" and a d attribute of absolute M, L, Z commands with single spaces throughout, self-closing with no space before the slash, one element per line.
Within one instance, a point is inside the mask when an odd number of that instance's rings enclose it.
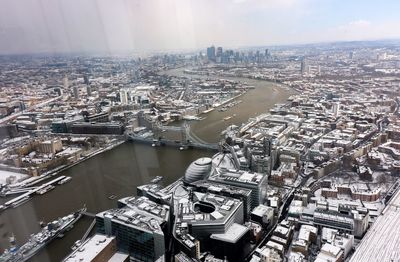
<path fill-rule="evenodd" d="M 0 212 L 122 143 L 210 152 L 67 216 L 94 222 L 64 261 L 399 259 L 399 42 L 3 56 L 0 90 Z M 254 92 L 277 98 L 242 121 Z M 25 261 L 16 246 L 0 259 Z"/>

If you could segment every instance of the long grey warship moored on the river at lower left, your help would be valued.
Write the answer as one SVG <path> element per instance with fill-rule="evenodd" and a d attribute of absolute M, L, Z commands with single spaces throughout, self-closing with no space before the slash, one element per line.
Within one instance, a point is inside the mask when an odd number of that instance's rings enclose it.
<path fill-rule="evenodd" d="M 21 247 L 17 247 L 15 241 L 11 242 L 11 248 L 0 255 L 0 262 L 23 262 L 29 260 L 56 237 L 61 237 L 65 231 L 70 230 L 84 212 L 86 212 L 86 208 L 48 223 L 39 233 L 32 234 Z"/>

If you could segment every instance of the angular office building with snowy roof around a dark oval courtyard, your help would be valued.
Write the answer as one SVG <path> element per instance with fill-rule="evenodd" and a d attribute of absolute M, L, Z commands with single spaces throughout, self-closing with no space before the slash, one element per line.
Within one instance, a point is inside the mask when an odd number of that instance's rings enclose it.
<path fill-rule="evenodd" d="M 237 199 L 181 188 L 175 193 L 174 209 L 176 246 L 191 257 L 198 259 L 200 250 L 213 250 L 212 235 L 222 242 L 231 237 L 234 243 L 246 235 L 242 228 L 229 231 L 234 223 L 244 222 L 243 204 Z"/>

